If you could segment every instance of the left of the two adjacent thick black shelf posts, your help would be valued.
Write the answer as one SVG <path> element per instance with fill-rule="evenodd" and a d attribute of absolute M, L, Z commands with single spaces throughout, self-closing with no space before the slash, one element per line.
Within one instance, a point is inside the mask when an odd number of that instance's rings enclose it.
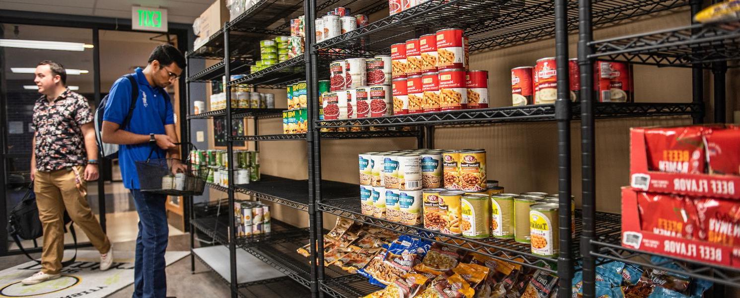
<path fill-rule="evenodd" d="M 560 297 L 571 297 L 573 257 L 571 252 L 571 84 L 568 61 L 568 3 L 555 0 L 555 63 L 557 100 L 555 118 L 558 133 L 558 194 L 560 254 L 557 260 Z"/>

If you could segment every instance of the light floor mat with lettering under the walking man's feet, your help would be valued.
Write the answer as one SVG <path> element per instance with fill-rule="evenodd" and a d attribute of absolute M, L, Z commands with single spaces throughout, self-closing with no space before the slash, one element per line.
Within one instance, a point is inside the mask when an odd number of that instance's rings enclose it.
<path fill-rule="evenodd" d="M 73 251 L 65 251 L 64 260 L 72 257 Z M 166 265 L 186 257 L 188 251 L 167 251 Z M 27 262 L 0 271 L 0 297 L 106 297 L 134 282 L 134 252 L 115 251 L 114 263 L 107 271 L 100 271 L 98 251 L 78 251 L 77 260 L 62 269 L 56 280 L 37 285 L 23 285 L 21 280 L 41 269 L 35 262 Z"/>

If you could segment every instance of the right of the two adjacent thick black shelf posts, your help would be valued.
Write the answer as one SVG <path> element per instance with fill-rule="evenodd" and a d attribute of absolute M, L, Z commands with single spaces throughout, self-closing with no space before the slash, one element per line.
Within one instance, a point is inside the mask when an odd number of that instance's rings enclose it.
<path fill-rule="evenodd" d="M 581 75 L 581 175 L 583 227 L 581 234 L 581 254 L 583 257 L 583 297 L 596 296 L 596 258 L 591 255 L 591 240 L 596 237 L 596 152 L 593 121 L 593 23 L 591 20 L 591 1 L 578 0 L 579 38 L 578 65 Z M 567 72 L 566 72 L 567 73 Z M 562 190 L 562 189 L 561 189 Z M 568 198 L 569 199 L 569 198 Z M 562 201 L 561 201 L 562 202 Z M 562 205 L 562 203 L 561 203 Z M 561 235 L 562 237 L 562 235 Z"/>

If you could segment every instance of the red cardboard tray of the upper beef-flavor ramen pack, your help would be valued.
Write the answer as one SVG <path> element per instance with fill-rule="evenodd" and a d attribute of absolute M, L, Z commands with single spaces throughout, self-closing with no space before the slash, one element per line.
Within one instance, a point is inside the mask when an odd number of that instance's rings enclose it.
<path fill-rule="evenodd" d="M 645 128 L 630 129 L 630 186 L 644 192 L 740 199 L 740 176 L 649 171 Z"/>

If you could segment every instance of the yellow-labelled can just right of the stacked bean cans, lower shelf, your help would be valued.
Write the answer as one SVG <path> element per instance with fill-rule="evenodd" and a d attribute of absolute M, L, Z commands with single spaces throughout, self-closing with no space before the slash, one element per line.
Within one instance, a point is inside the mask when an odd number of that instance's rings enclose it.
<path fill-rule="evenodd" d="M 491 203 L 488 194 L 462 196 L 462 236 L 473 239 L 491 237 Z"/>

